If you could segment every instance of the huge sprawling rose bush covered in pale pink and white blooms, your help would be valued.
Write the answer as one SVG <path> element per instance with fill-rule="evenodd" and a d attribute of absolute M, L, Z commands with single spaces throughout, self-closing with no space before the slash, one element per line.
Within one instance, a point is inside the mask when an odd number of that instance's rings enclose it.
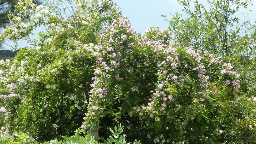
<path fill-rule="evenodd" d="M 142 143 L 224 143 L 234 139 L 229 132 L 239 135 L 238 123 L 254 132 L 247 112 L 255 102 L 239 91 L 240 74 L 206 49 L 177 43 L 172 31 L 136 34 L 111 0 L 26 0 L 16 11 L 0 38 L 31 46 L 0 61 L 7 136 L 22 131 L 49 141 L 89 132 L 100 141 L 118 123 L 128 141 Z M 46 30 L 31 39 L 39 26 Z"/>

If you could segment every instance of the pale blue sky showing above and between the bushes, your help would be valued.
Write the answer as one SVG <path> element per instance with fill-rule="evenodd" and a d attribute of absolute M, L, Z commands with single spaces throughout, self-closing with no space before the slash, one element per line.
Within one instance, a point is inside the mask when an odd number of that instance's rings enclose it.
<path fill-rule="evenodd" d="M 177 3 L 177 0 L 113 0 L 117 2 L 123 15 L 126 15 L 128 20 L 131 22 L 132 27 L 139 33 L 142 34 L 149 27 L 161 27 L 166 29 L 168 27 L 168 22 L 165 22 L 165 19 L 161 15 L 166 15 L 167 19 L 170 20 L 170 14 L 175 14 L 179 12 L 182 16 L 185 17 L 185 14 L 182 12 L 182 6 Z M 191 0 L 193 1 L 193 0 Z M 207 4 L 206 0 L 198 0 L 199 3 Z M 256 1 L 252 0 L 251 10 L 256 10 Z M 241 9 L 241 11 L 246 15 L 247 11 Z M 237 15 L 240 19 L 245 19 L 241 12 L 238 12 Z M 256 19 L 256 11 L 250 14 L 250 19 L 252 23 Z M 242 20 L 241 20 L 242 21 Z M 241 22 L 242 23 L 242 22 Z M 12 42 L 6 41 L 7 43 L 13 45 Z M 25 47 L 25 41 L 19 42 L 20 47 Z M 20 44 L 22 43 L 22 44 Z M 9 46 L 4 45 L 5 49 L 10 49 Z"/>

